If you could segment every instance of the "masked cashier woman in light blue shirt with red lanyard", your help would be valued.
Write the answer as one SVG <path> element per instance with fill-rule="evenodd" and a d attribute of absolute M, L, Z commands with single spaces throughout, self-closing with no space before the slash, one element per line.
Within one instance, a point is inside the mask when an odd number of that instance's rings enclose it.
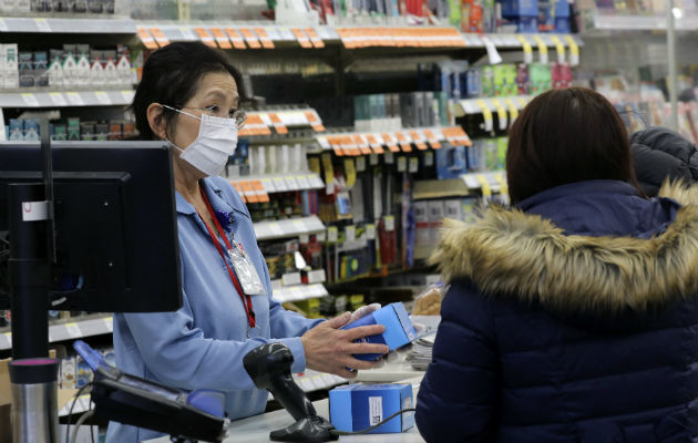
<path fill-rule="evenodd" d="M 348 379 L 356 373 L 347 367 L 374 364 L 351 354 L 388 352 L 382 344 L 352 342 L 381 333 L 382 326 L 338 329 L 358 312 L 309 320 L 273 298 L 249 213 L 218 177 L 245 121 L 242 87 L 240 73 L 203 43 L 173 43 L 145 62 L 133 112 L 143 140 L 172 147 L 184 297 L 176 312 L 114 316 L 121 370 L 183 390 L 223 391 L 232 420 L 265 410 L 267 392 L 255 389 L 243 368 L 243 357 L 263 343 L 286 344 L 294 372 L 309 368 Z M 106 440 L 160 435 L 111 423 Z"/>

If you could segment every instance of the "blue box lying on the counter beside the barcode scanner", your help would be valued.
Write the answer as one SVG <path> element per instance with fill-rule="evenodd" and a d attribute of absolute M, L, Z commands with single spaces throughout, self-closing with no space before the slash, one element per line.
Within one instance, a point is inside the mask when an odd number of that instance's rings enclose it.
<path fill-rule="evenodd" d="M 338 431 L 362 431 L 403 409 L 411 409 L 412 385 L 349 384 L 329 392 L 330 422 Z M 414 413 L 406 412 L 369 434 L 404 432 L 414 425 Z"/>

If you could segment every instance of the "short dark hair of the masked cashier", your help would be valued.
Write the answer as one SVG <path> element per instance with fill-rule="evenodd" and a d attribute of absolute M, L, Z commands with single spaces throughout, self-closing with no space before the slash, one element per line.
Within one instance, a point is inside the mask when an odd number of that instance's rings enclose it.
<path fill-rule="evenodd" d="M 154 140 L 147 122 L 147 107 L 152 103 L 183 106 L 194 94 L 198 81 L 212 72 L 227 72 L 237 84 L 240 101 L 246 97 L 243 75 L 225 55 L 202 42 L 171 43 L 153 52 L 143 65 L 141 83 L 136 89 L 131 110 L 141 140 Z M 176 112 L 164 109 L 163 117 L 170 132 L 176 123 Z"/>

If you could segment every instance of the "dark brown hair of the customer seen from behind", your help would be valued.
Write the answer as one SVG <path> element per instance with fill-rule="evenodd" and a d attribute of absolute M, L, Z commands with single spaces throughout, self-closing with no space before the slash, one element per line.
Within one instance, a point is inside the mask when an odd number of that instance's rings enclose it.
<path fill-rule="evenodd" d="M 513 204 L 542 190 L 589 179 L 635 179 L 628 134 L 599 93 L 569 87 L 528 103 L 509 131 L 506 179 Z"/>

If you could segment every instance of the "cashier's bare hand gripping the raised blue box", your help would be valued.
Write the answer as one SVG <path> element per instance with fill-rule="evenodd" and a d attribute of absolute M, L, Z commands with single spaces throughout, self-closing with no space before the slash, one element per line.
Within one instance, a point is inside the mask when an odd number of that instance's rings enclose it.
<path fill-rule="evenodd" d="M 347 368 L 371 369 L 377 365 L 374 361 L 358 360 L 355 353 L 380 353 L 390 351 L 386 344 L 355 343 L 353 340 L 362 337 L 383 333 L 382 324 L 361 326 L 353 329 L 339 329 L 351 319 L 351 312 L 324 321 L 300 337 L 306 352 L 306 368 L 315 371 L 328 372 L 345 379 L 357 377 L 356 371 Z"/>

